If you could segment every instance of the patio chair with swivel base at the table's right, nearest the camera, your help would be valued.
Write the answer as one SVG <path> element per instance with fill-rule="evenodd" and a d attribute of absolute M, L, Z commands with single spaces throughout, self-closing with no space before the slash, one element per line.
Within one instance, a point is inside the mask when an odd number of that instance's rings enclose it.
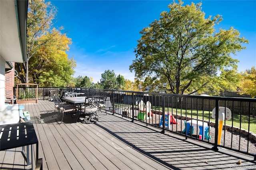
<path fill-rule="evenodd" d="M 98 114 L 97 112 L 99 111 L 99 101 L 99 96 L 90 96 L 85 98 L 85 105 L 80 107 L 81 111 L 83 111 L 85 115 L 85 118 L 81 121 L 81 123 L 95 123 L 98 121 L 96 116 L 94 118 L 92 118 L 92 116 L 94 114 Z M 96 121 L 93 121 L 92 119 Z"/>

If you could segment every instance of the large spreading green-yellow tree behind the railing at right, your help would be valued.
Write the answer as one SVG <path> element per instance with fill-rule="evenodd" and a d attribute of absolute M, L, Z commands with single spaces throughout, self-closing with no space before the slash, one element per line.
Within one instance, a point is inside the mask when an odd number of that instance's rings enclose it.
<path fill-rule="evenodd" d="M 136 59 L 130 65 L 137 78 L 150 76 L 158 83 L 165 83 L 173 94 L 193 94 L 207 90 L 220 80 L 217 72 L 225 68 L 236 70 L 238 60 L 231 53 L 245 49 L 248 43 L 240 33 L 230 27 L 214 33 L 214 25 L 222 21 L 220 15 L 205 19 L 201 4 L 182 6 L 173 2 L 169 12 L 162 12 L 140 31 L 142 34 L 134 52 Z"/>

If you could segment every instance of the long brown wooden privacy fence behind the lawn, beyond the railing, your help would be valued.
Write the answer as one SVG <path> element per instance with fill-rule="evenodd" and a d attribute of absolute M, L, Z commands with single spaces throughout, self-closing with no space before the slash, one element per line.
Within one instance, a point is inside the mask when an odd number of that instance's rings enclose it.
<path fill-rule="evenodd" d="M 216 106 L 216 97 L 212 96 L 192 96 L 192 95 L 172 95 L 172 94 L 159 94 L 148 92 L 131 92 L 123 90 L 102 90 L 102 89 L 88 89 L 88 88 L 70 88 L 70 87 L 41 87 L 39 88 L 39 98 L 48 99 L 50 94 L 60 93 L 63 90 L 69 90 L 76 92 L 86 92 L 88 95 L 97 93 L 99 95 L 108 95 L 113 98 L 113 102 L 120 104 L 131 105 L 132 103 L 137 105 L 140 100 L 144 102 L 150 101 L 152 106 L 164 106 L 172 108 L 193 109 L 212 111 Z M 132 94 L 134 96 L 132 97 Z M 256 110 L 256 102 L 248 102 L 246 100 L 237 100 L 245 98 L 232 98 L 218 97 L 219 106 L 228 107 L 232 113 L 242 113 L 252 115 Z"/>

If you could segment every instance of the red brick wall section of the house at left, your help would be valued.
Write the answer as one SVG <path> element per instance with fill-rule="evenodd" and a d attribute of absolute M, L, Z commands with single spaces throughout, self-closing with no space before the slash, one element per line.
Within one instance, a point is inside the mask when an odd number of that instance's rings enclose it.
<path fill-rule="evenodd" d="M 15 63 L 12 63 L 14 66 Z M 14 68 L 11 72 L 5 74 L 5 96 L 13 96 L 14 87 Z"/>

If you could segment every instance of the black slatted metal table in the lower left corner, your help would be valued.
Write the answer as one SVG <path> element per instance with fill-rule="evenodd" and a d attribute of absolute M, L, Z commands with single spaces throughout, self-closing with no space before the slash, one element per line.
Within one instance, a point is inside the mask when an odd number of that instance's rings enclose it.
<path fill-rule="evenodd" d="M 36 162 L 38 160 L 38 139 L 32 122 L 1 125 L 0 150 L 22 147 L 22 153 L 27 166 L 32 164 L 33 169 L 33 144 L 36 144 Z M 31 160 L 29 160 L 29 145 L 31 145 Z M 24 147 L 27 146 L 27 152 Z"/>

